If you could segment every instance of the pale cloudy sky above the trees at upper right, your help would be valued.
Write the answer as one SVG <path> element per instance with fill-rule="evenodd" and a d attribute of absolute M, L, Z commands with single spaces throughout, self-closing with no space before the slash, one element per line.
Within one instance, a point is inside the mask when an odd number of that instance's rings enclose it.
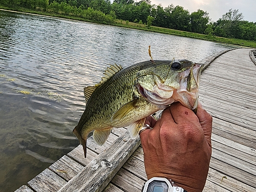
<path fill-rule="evenodd" d="M 201 9 L 209 13 L 212 22 L 216 22 L 229 9 L 236 9 L 243 13 L 244 20 L 256 22 L 255 0 L 151 0 L 151 5 L 154 4 L 161 4 L 163 8 L 170 4 L 179 5 L 190 13 Z"/>

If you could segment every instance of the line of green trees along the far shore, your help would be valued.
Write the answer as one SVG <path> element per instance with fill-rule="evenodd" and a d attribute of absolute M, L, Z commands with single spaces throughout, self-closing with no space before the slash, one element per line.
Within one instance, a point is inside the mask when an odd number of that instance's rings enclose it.
<path fill-rule="evenodd" d="M 256 23 L 230 9 L 217 22 L 206 11 L 190 13 L 182 6 L 151 5 L 150 0 L 0 0 L 0 5 L 74 15 L 97 23 L 114 24 L 117 19 L 181 31 L 256 41 Z"/>

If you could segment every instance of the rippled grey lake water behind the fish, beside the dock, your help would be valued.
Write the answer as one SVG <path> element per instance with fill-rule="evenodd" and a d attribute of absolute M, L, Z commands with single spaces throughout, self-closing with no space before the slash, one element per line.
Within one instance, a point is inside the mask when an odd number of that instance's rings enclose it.
<path fill-rule="evenodd" d="M 192 61 L 232 46 L 179 36 L 0 11 L 0 191 L 14 191 L 79 142 L 83 87 L 109 64 Z"/>

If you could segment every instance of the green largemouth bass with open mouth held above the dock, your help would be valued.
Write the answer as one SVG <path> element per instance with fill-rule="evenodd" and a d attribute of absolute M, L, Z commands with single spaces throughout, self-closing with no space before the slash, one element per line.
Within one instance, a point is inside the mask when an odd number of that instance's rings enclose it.
<path fill-rule="evenodd" d="M 83 89 L 86 108 L 73 133 L 83 146 L 90 132 L 99 145 L 113 127 L 129 126 L 138 136 L 146 117 L 181 102 L 196 113 L 203 65 L 186 59 L 146 60 L 122 68 L 110 65 L 101 81 Z"/>

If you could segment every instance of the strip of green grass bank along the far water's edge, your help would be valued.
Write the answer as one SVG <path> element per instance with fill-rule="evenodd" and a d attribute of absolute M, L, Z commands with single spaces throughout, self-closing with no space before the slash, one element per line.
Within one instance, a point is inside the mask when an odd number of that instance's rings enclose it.
<path fill-rule="evenodd" d="M 6 10 L 9 9 L 10 10 L 10 8 L 2 7 L 2 6 L 0 6 L 0 9 L 6 9 Z M 99 22 L 95 22 L 93 20 L 84 19 L 82 17 L 77 17 L 74 15 L 55 14 L 55 13 L 49 13 L 49 12 L 44 12 L 44 11 L 39 11 L 39 10 L 30 10 L 30 9 L 25 9 L 25 8 L 18 8 L 18 9 L 16 9 L 16 11 L 45 15 L 45 16 L 53 16 L 53 17 L 58 17 L 58 18 L 66 18 L 66 19 L 72 19 L 72 20 L 80 20 L 83 22 L 99 23 Z M 148 28 L 144 24 L 126 22 L 124 20 L 119 20 L 119 19 L 116 19 L 116 23 L 114 23 L 112 25 L 118 26 L 118 27 L 124 27 L 124 28 L 152 31 L 152 32 L 164 33 L 164 34 L 169 34 L 169 35 L 178 35 L 178 36 L 183 36 L 183 37 L 220 42 L 222 44 L 256 48 L 255 41 L 248 41 L 248 40 L 235 39 L 235 38 L 217 37 L 217 36 L 212 36 L 212 35 L 205 35 L 205 34 L 199 34 L 199 33 L 187 32 L 187 31 L 179 31 L 179 30 L 175 30 L 175 29 L 168 29 L 168 28 L 162 28 L 162 27 L 156 27 L 156 26 L 151 26 L 150 28 Z"/>

